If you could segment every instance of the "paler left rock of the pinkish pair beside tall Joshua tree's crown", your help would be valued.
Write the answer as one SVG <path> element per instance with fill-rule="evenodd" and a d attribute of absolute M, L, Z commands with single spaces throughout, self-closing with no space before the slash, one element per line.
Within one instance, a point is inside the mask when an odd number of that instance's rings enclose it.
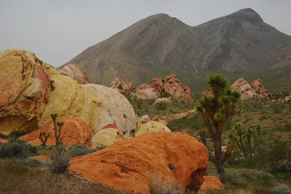
<path fill-rule="evenodd" d="M 243 78 L 236 80 L 230 89 L 237 89 L 242 93 L 242 100 L 253 99 L 256 95 L 255 90 Z"/>

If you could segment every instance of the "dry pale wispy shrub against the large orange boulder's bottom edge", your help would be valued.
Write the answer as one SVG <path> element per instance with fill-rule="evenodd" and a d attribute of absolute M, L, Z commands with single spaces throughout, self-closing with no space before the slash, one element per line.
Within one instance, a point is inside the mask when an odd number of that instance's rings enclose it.
<path fill-rule="evenodd" d="M 150 194 L 184 194 L 181 186 L 167 182 L 162 176 L 154 174 L 152 185 L 149 187 Z"/>

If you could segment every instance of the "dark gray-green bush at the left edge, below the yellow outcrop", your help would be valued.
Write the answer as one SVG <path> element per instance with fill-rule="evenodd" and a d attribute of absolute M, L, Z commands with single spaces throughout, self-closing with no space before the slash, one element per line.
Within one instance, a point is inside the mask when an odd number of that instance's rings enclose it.
<path fill-rule="evenodd" d="M 22 140 L 13 139 L 0 147 L 0 158 L 27 158 L 36 155 L 36 153 L 35 148 Z"/>

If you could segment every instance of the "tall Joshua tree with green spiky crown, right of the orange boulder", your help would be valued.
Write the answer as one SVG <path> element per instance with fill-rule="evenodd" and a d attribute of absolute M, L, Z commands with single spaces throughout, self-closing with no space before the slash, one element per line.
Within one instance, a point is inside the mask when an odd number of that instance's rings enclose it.
<path fill-rule="evenodd" d="M 223 164 L 230 157 L 233 142 L 229 141 L 226 153 L 223 155 L 221 148 L 223 127 L 226 121 L 235 114 L 236 104 L 241 101 L 242 95 L 238 90 L 230 90 L 227 87 L 228 79 L 222 74 L 207 75 L 207 83 L 211 95 L 203 95 L 200 102 L 195 105 L 195 109 L 201 113 L 213 141 L 214 156 L 209 154 L 209 160 L 215 164 L 217 173 L 224 176 Z M 205 132 L 200 132 L 200 137 L 206 145 Z"/>

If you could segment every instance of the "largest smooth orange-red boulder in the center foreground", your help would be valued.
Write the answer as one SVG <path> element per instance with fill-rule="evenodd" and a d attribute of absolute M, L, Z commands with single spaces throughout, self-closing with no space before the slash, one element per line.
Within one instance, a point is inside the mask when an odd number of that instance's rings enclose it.
<path fill-rule="evenodd" d="M 82 178 L 131 194 L 150 194 L 153 175 L 197 192 L 204 181 L 208 150 L 187 133 L 161 132 L 118 141 L 70 162 L 69 169 Z"/>

